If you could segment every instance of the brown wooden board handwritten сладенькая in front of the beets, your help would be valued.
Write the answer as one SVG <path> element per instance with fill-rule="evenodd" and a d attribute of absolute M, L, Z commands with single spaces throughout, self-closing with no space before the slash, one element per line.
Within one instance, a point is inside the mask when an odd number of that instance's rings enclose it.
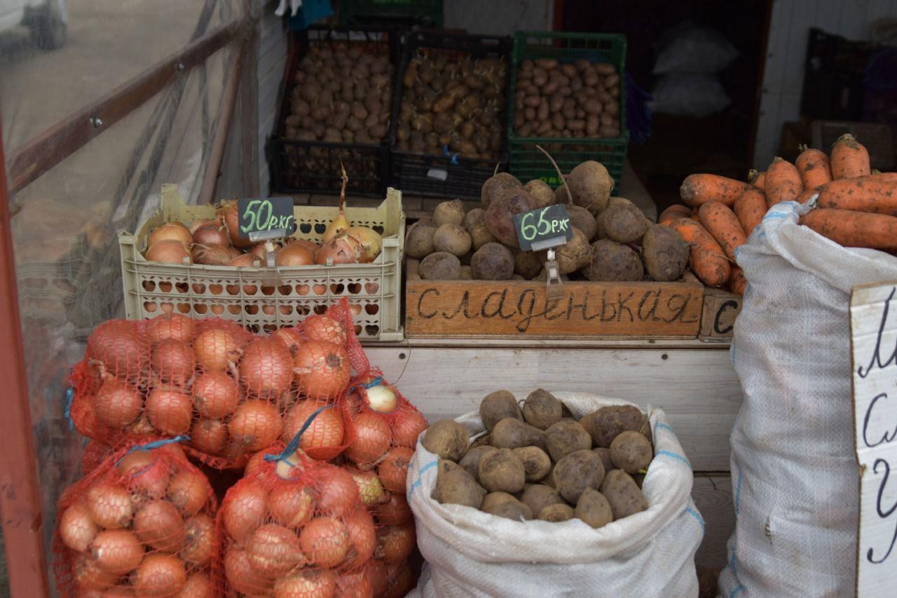
<path fill-rule="evenodd" d="M 408 280 L 408 337 L 695 338 L 704 289 L 693 283 Z"/>

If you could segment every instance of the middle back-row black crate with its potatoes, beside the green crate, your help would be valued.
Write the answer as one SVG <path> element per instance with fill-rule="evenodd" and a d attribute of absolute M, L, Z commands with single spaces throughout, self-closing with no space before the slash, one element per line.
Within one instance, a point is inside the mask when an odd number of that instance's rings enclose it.
<path fill-rule="evenodd" d="M 511 40 L 418 31 L 408 36 L 390 131 L 391 186 L 405 193 L 479 198 L 507 171 Z"/>

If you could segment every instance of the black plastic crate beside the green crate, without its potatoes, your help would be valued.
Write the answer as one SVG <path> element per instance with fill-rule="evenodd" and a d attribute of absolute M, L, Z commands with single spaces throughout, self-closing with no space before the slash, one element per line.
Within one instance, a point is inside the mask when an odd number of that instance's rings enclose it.
<path fill-rule="evenodd" d="M 407 37 L 402 60 L 396 75 L 396 91 L 393 93 L 393 112 L 390 119 L 390 185 L 412 193 L 431 197 L 480 198 L 483 182 L 492 176 L 496 166 L 499 171 L 508 170 L 508 136 L 504 126 L 504 113 L 498 116 L 501 130 L 501 150 L 496 159 L 467 158 L 448 151 L 442 155 L 421 154 L 401 150 L 396 145 L 399 112 L 405 87 L 402 79 L 412 58 L 419 52 L 460 60 L 501 57 L 507 63 L 505 90 L 499 104 L 508 110 L 510 89 L 510 57 L 513 44 L 509 37 L 463 35 L 418 31 Z"/>

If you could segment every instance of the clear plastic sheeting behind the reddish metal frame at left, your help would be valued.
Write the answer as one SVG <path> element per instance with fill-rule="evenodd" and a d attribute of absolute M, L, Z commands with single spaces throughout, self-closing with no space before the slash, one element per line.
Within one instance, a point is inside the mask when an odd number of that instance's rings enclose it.
<path fill-rule="evenodd" d="M 65 44 L 44 50 L 28 28 L 4 30 L 8 4 L 21 3 L 0 1 L 7 164 L 17 147 L 243 10 L 239 0 L 67 0 Z M 65 418 L 69 368 L 94 326 L 124 317 L 117 235 L 159 206 L 162 183 L 196 203 L 236 51 L 218 50 L 10 198 L 48 558 L 57 498 L 81 475 L 85 442 Z"/>

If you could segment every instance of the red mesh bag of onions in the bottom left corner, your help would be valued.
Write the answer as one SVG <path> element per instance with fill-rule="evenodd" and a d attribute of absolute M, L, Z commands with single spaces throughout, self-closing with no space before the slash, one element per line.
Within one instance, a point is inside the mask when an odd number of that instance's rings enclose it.
<path fill-rule="evenodd" d="M 178 440 L 122 448 L 66 488 L 53 538 L 59 594 L 215 595 L 217 503 Z"/>

